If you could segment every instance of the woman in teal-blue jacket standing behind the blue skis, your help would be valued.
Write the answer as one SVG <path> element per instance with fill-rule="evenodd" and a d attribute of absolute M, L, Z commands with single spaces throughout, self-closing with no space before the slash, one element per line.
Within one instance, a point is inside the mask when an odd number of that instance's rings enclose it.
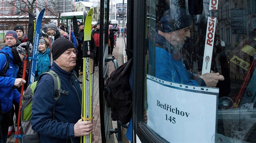
<path fill-rule="evenodd" d="M 39 38 L 36 81 L 43 72 L 48 71 L 51 67 L 49 44 L 48 38 Z"/>

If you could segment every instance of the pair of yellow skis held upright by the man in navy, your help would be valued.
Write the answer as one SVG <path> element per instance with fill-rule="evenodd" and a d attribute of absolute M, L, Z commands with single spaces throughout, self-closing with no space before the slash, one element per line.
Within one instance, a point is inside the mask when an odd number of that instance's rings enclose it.
<path fill-rule="evenodd" d="M 93 54 L 91 47 L 91 8 L 88 13 L 84 11 L 84 41 L 83 41 L 83 80 L 82 80 L 82 113 L 81 121 L 93 121 L 93 59 L 90 55 Z M 92 133 L 82 136 L 80 143 L 91 143 Z"/>

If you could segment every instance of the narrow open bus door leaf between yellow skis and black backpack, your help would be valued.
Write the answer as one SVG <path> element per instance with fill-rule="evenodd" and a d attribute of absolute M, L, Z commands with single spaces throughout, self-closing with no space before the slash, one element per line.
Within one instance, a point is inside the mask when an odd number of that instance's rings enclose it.
<path fill-rule="evenodd" d="M 100 125 L 102 143 L 114 143 L 111 120 L 111 109 L 104 98 L 104 84 L 108 77 L 108 63 L 113 58 L 108 57 L 108 23 L 109 0 L 100 1 L 100 48 L 99 48 L 99 98 L 100 98 Z"/>

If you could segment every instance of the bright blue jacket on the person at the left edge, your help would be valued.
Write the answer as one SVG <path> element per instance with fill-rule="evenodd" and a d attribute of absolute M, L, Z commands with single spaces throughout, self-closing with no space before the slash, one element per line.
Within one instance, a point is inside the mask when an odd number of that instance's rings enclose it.
<path fill-rule="evenodd" d="M 13 64 L 13 54 L 10 47 L 6 46 L 1 51 L 9 54 L 9 69 L 5 74 L 6 77 L 0 76 L 1 108 L 2 113 L 6 113 L 13 107 L 13 101 L 20 103 L 20 93 L 16 88 L 13 88 L 19 67 Z M 0 73 L 5 67 L 6 61 L 6 56 L 0 53 Z"/>

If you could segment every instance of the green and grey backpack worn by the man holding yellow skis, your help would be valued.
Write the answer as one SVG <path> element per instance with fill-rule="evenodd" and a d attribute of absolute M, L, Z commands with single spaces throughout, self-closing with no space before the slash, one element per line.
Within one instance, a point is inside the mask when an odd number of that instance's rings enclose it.
<path fill-rule="evenodd" d="M 59 76 L 52 70 L 46 71 L 43 74 L 39 76 L 38 81 L 41 79 L 41 77 L 45 74 L 49 74 L 52 76 L 54 80 L 54 101 L 55 103 L 58 101 L 59 97 L 61 96 L 61 93 L 65 93 L 64 90 L 61 90 L 61 80 L 59 79 Z M 28 86 L 28 88 L 25 90 L 23 97 L 22 97 L 22 106 L 21 106 L 21 121 L 22 121 L 22 129 L 24 135 L 30 135 L 35 134 L 36 132 L 32 130 L 31 128 L 31 116 L 32 116 L 32 100 L 35 94 L 35 88 L 37 86 L 37 83 L 33 82 Z M 54 105 L 55 109 L 55 105 Z M 54 110 L 52 114 L 52 118 L 54 118 Z"/>

